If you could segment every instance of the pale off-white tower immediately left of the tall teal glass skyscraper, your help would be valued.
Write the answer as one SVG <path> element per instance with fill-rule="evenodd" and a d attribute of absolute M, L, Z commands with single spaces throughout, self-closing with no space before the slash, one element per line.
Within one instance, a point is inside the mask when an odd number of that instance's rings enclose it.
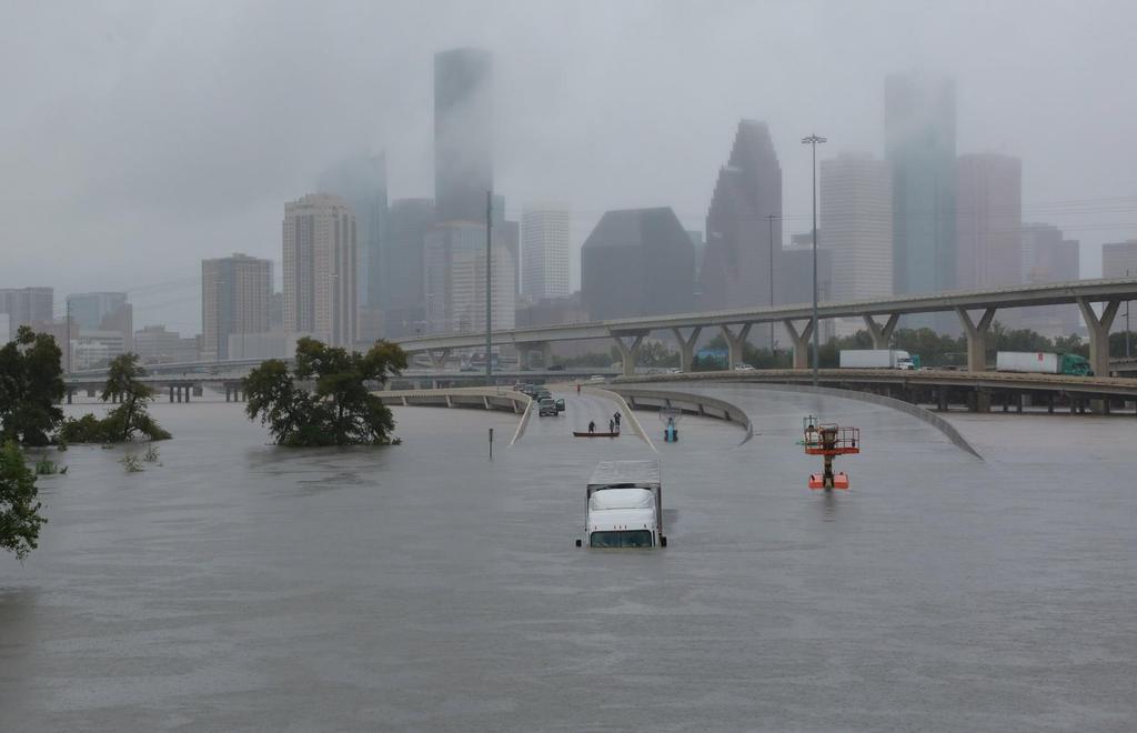
<path fill-rule="evenodd" d="M 849 155 L 822 160 L 819 188 L 824 232 L 819 240 L 832 253 L 830 299 L 891 295 L 893 185 L 888 164 Z"/>

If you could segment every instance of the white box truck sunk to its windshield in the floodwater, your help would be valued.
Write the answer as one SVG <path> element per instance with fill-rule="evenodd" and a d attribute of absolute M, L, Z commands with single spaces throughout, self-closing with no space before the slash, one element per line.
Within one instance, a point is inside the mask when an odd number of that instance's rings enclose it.
<path fill-rule="evenodd" d="M 584 532 L 594 548 L 667 547 L 659 461 L 601 460 L 588 482 Z"/>

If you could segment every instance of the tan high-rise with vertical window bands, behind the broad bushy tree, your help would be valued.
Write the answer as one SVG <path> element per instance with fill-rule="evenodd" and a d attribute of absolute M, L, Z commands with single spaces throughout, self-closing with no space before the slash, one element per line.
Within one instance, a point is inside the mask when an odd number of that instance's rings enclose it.
<path fill-rule="evenodd" d="M 357 334 L 357 231 L 345 199 L 308 194 L 284 207 L 284 331 L 350 347 Z"/>

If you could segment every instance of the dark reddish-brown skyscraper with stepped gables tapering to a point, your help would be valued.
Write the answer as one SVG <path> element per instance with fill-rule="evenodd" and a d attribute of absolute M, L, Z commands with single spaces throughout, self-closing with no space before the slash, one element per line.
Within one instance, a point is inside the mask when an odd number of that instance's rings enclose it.
<path fill-rule="evenodd" d="M 781 253 L 781 166 L 770 130 L 765 123 L 744 119 L 730 159 L 719 170 L 707 211 L 700 307 L 770 305 L 771 263 L 778 272 Z"/>

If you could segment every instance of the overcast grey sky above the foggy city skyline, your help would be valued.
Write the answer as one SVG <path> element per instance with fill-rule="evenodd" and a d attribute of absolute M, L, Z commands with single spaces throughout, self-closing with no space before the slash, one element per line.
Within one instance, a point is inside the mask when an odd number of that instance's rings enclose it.
<path fill-rule="evenodd" d="M 0 286 L 130 290 L 135 326 L 200 328 L 202 257 L 281 258 L 287 200 L 385 150 L 392 198 L 432 195 L 432 55 L 495 53 L 496 188 L 704 227 L 740 117 L 770 123 L 787 235 L 810 158 L 880 155 L 883 77 L 952 75 L 958 151 L 1023 159 L 1023 216 L 1137 236 L 1134 28 L 1124 0 L 6 3 Z"/>

